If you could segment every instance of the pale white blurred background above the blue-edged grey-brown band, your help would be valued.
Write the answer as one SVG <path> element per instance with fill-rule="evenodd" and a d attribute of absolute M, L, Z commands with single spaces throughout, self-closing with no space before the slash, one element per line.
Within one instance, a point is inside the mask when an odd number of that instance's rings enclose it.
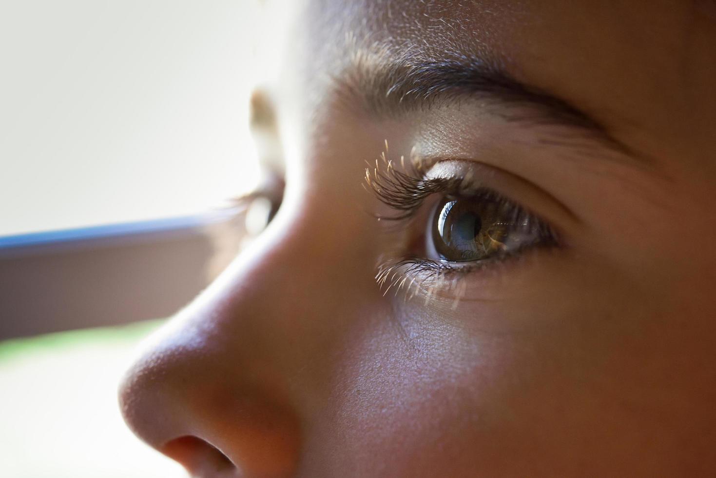
<path fill-rule="evenodd" d="M 257 4 L 0 0 L 0 236 L 244 191 Z"/>

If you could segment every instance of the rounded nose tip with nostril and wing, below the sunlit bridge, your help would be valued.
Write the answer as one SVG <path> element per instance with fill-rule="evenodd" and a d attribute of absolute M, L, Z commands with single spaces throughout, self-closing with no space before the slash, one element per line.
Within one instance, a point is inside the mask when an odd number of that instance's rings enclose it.
<path fill-rule="evenodd" d="M 237 383 L 228 372 L 207 354 L 150 355 L 120 386 L 125 421 L 192 477 L 292 476 L 296 414 L 277 393 Z"/>

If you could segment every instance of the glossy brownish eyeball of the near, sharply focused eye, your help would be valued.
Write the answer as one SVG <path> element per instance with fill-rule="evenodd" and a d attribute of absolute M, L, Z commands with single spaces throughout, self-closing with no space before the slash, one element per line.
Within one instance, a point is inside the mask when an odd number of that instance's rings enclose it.
<path fill-rule="evenodd" d="M 518 252 L 548 238 L 546 226 L 499 197 L 442 199 L 430 224 L 439 259 L 470 262 Z"/>

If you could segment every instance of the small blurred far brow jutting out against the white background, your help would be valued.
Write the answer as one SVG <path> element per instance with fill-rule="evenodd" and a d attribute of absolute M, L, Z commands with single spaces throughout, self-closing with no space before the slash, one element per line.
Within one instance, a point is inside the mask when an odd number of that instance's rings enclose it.
<path fill-rule="evenodd" d="M 286 169 L 284 148 L 279 135 L 274 102 L 264 90 L 254 90 L 251 94 L 249 128 L 256 143 L 258 161 L 262 168 L 281 178 Z"/>

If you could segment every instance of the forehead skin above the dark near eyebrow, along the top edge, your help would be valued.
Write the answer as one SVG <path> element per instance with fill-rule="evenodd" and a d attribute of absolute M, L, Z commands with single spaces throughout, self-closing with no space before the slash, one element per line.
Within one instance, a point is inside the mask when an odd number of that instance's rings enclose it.
<path fill-rule="evenodd" d="M 309 82 L 317 82 L 315 72 L 339 72 L 355 50 L 467 55 L 499 64 L 589 113 L 635 149 L 647 149 L 664 130 L 693 137 L 706 119 L 716 119 L 716 21 L 708 5 L 309 0 L 300 27 L 309 54 L 301 57 Z M 681 131 L 674 130 L 674 115 Z"/>

